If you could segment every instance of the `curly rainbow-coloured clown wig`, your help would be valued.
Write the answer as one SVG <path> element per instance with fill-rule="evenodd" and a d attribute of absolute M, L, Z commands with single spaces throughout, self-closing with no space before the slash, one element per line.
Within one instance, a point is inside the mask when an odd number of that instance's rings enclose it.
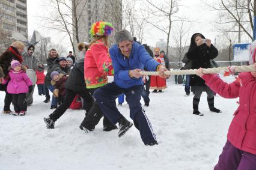
<path fill-rule="evenodd" d="M 112 34 L 113 29 L 114 27 L 111 23 L 98 21 L 93 23 L 93 25 L 91 25 L 90 34 L 91 34 L 91 37 L 95 37 L 96 35 L 109 36 Z"/>

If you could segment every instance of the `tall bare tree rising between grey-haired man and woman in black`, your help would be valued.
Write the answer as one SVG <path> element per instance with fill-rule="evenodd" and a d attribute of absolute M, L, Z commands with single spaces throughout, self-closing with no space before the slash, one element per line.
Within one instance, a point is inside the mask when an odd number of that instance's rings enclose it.
<path fill-rule="evenodd" d="M 171 26 L 174 21 L 179 20 L 175 14 L 178 12 L 178 0 L 152 1 L 145 0 L 144 11 L 148 16 L 144 20 L 155 28 L 166 34 L 166 56 L 168 56 L 169 37 L 171 35 Z M 167 23 L 167 25 L 166 25 Z"/>

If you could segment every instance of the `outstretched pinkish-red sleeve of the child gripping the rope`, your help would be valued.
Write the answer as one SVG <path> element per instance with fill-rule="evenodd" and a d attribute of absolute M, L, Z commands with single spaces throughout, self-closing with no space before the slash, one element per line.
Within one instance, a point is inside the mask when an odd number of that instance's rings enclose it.
<path fill-rule="evenodd" d="M 228 99 L 239 97 L 240 83 L 238 80 L 232 83 L 226 83 L 218 74 L 204 74 L 202 78 L 206 80 L 206 85 L 220 96 Z"/>

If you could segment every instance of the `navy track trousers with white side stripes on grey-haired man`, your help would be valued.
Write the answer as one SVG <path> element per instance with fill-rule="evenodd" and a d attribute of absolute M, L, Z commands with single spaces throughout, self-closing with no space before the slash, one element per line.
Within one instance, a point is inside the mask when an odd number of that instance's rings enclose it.
<path fill-rule="evenodd" d="M 112 82 L 99 88 L 93 96 L 96 99 L 96 103 L 102 108 L 103 114 L 109 118 L 112 124 L 117 124 L 123 118 L 123 115 L 118 111 L 115 99 L 122 93 L 126 95 L 126 102 L 130 108 L 130 118 L 132 118 L 135 127 L 139 130 L 144 144 L 147 145 L 156 141 L 156 135 L 153 132 L 151 123 L 141 107 L 142 85 L 124 89 Z"/>

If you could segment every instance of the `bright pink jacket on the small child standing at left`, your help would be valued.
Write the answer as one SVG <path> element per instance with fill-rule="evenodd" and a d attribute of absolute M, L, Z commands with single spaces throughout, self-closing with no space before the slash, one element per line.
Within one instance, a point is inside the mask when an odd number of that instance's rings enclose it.
<path fill-rule="evenodd" d="M 10 94 L 28 93 L 28 87 L 32 85 L 31 80 L 22 70 L 9 71 L 10 81 L 7 85 L 7 91 Z"/>

